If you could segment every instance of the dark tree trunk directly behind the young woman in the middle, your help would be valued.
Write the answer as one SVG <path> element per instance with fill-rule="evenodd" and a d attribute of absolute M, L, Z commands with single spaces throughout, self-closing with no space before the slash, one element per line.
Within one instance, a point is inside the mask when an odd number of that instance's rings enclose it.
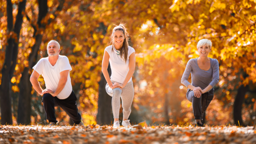
<path fill-rule="evenodd" d="M 109 76 L 111 75 L 110 64 L 107 68 Z M 98 97 L 98 114 L 97 114 L 97 123 L 99 125 L 110 125 L 113 119 L 112 114 L 112 97 L 109 96 L 106 92 L 105 86 L 107 81 L 101 73 L 101 81 L 99 81 L 99 97 Z"/>

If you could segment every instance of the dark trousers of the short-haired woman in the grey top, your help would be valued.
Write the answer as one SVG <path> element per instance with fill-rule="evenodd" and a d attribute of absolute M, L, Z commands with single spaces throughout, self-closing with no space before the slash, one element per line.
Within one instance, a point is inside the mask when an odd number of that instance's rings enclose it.
<path fill-rule="evenodd" d="M 207 107 L 209 106 L 211 100 L 213 100 L 214 89 L 211 89 L 208 93 L 204 93 L 197 98 L 194 96 L 194 91 L 187 89 L 186 97 L 192 102 L 193 113 L 196 120 L 203 119 L 203 113 L 205 113 Z"/>

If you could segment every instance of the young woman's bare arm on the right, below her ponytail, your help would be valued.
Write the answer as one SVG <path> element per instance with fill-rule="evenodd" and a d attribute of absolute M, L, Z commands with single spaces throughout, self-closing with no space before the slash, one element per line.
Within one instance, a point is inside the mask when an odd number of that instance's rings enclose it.
<path fill-rule="evenodd" d="M 125 77 L 125 80 L 123 81 L 122 84 L 119 84 L 117 82 L 114 83 L 113 88 L 115 87 L 125 87 L 125 85 L 128 83 L 130 80 L 131 76 L 133 76 L 133 73 L 135 71 L 135 51 L 129 56 L 129 71 Z"/>

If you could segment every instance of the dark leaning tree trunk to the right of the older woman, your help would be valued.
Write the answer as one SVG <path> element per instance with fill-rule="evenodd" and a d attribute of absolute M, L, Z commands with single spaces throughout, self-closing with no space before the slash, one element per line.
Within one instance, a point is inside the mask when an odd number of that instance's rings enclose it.
<path fill-rule="evenodd" d="M 245 98 L 245 94 L 246 94 L 248 88 L 249 88 L 248 85 L 246 85 L 246 86 L 241 85 L 238 88 L 237 96 L 235 97 L 233 116 L 234 116 L 234 123 L 236 126 L 243 125 L 242 103 L 243 103 L 243 99 Z"/>

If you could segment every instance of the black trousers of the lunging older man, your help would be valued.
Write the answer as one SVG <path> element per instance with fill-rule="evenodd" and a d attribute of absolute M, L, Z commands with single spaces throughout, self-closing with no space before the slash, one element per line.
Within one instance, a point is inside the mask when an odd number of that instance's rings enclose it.
<path fill-rule="evenodd" d="M 72 90 L 69 97 L 66 99 L 58 99 L 56 96 L 53 97 L 51 94 L 43 95 L 43 108 L 46 112 L 46 117 L 49 122 L 57 123 L 55 117 L 55 106 L 60 106 L 69 117 L 73 120 L 73 122 L 77 125 L 81 122 L 81 115 L 78 113 L 77 108 L 77 97 L 75 96 L 74 91 Z"/>

